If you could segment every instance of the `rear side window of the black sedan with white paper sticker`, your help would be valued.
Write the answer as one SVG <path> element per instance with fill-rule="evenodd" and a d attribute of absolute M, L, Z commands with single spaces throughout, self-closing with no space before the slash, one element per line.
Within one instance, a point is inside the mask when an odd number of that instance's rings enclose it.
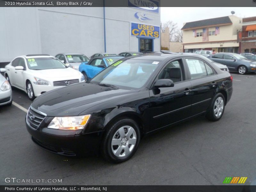
<path fill-rule="evenodd" d="M 213 69 L 204 61 L 198 59 L 186 59 L 191 79 L 197 79 L 213 75 Z"/>

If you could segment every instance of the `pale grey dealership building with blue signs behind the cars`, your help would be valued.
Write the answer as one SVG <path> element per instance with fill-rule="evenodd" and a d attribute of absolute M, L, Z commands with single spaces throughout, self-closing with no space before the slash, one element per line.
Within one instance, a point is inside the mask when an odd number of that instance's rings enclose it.
<path fill-rule="evenodd" d="M 0 62 L 26 54 L 160 51 L 160 7 L 0 7 Z"/>

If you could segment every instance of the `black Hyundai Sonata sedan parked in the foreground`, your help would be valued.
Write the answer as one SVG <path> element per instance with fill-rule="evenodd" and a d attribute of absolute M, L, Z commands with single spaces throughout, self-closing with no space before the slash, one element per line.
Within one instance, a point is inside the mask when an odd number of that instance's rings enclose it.
<path fill-rule="evenodd" d="M 232 90 L 232 76 L 204 56 L 134 56 L 91 81 L 39 96 L 26 125 L 32 140 L 48 151 L 100 152 L 120 163 L 133 156 L 149 132 L 199 115 L 219 120 Z"/>

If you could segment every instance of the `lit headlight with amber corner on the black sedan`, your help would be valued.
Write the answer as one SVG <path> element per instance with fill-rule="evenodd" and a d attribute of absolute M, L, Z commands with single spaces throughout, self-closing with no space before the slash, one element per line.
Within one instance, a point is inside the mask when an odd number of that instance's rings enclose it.
<path fill-rule="evenodd" d="M 84 129 L 91 115 L 54 117 L 48 128 L 60 130 L 79 130 Z"/>

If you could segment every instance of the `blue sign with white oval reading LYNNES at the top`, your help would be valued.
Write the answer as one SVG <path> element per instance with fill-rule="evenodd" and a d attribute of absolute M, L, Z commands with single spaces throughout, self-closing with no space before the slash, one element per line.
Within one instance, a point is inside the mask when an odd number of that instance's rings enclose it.
<path fill-rule="evenodd" d="M 154 0 L 128 0 L 128 6 L 159 13 L 159 2 Z"/>

